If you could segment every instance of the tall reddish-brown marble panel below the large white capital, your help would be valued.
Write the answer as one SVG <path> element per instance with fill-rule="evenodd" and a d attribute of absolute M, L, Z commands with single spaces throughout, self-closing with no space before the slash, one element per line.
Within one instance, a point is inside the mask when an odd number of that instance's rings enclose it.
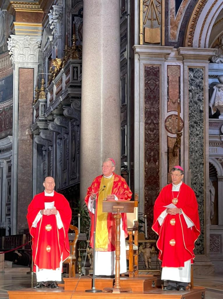
<path fill-rule="evenodd" d="M 32 199 L 32 68 L 19 68 L 17 229 L 27 228 L 27 207 Z M 27 84 L 29 82 L 29 84 Z"/>

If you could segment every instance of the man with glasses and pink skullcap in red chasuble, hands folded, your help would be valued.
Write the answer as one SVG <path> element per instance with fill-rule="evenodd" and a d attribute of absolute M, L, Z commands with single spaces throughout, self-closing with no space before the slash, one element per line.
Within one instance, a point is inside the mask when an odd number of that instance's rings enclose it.
<path fill-rule="evenodd" d="M 184 291 L 191 281 L 194 243 L 200 234 L 198 204 L 193 190 L 182 182 L 184 170 L 171 170 L 172 184 L 165 186 L 154 204 L 152 229 L 159 235 L 157 248 L 162 261 L 166 291 Z"/>

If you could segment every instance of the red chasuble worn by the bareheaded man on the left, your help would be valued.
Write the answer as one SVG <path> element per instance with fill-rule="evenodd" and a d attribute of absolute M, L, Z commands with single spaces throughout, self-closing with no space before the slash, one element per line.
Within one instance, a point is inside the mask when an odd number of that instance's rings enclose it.
<path fill-rule="evenodd" d="M 45 208 L 44 202 L 55 202 L 64 227 L 58 229 L 56 215 L 42 215 L 37 227 L 32 227 L 36 215 Z M 61 254 L 63 261 L 69 257 L 68 229 L 71 221 L 71 209 L 66 198 L 54 191 L 54 196 L 45 196 L 44 192 L 37 194 L 28 206 L 27 220 L 32 236 L 32 256 L 34 269 L 55 270 L 60 266 Z"/>

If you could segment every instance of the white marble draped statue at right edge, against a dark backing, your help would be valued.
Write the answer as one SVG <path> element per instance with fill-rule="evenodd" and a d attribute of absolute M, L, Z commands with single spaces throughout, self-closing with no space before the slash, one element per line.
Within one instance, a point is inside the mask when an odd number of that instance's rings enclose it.
<path fill-rule="evenodd" d="M 209 106 L 213 115 L 217 109 L 219 119 L 223 119 L 223 75 L 218 76 L 219 82 L 212 82 L 209 86 Z"/>

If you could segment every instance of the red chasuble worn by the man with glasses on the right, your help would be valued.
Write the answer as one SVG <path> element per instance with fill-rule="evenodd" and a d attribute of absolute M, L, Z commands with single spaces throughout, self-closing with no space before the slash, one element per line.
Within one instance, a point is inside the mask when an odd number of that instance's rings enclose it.
<path fill-rule="evenodd" d="M 179 193 L 179 195 L 178 195 Z M 172 203 L 172 199 L 178 196 L 177 208 L 191 220 L 193 226 L 188 228 L 184 216 L 181 214 L 167 215 L 159 225 L 158 217 L 166 209 L 163 206 Z M 193 259 L 194 243 L 200 234 L 200 222 L 198 204 L 193 190 L 182 183 L 180 191 L 172 192 L 172 184 L 165 186 L 154 204 L 154 221 L 152 229 L 159 235 L 157 248 L 162 267 L 184 267 L 184 262 Z"/>

